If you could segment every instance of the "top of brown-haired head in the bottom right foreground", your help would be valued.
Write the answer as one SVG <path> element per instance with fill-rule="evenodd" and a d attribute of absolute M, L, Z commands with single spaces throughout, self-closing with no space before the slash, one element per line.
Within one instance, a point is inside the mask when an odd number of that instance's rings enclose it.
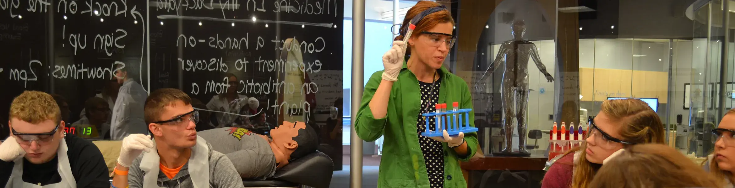
<path fill-rule="evenodd" d="M 723 187 L 691 159 L 662 144 L 631 145 L 598 170 L 595 188 Z"/>

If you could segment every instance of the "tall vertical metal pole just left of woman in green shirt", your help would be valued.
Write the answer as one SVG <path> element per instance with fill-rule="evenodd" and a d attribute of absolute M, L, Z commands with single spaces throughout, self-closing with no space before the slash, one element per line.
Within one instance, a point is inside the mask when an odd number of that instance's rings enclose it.
<path fill-rule="evenodd" d="M 362 139 L 357 137 L 355 121 L 364 89 L 363 68 L 365 66 L 365 0 L 352 1 L 352 126 L 350 142 L 350 187 L 362 188 Z"/>

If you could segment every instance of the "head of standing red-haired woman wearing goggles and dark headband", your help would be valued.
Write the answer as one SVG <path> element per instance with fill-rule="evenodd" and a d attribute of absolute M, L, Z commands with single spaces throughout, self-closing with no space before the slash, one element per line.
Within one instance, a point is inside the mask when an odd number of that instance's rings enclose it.
<path fill-rule="evenodd" d="M 414 7 L 406 12 L 403 24 L 401 24 L 401 35 L 395 40 L 404 40 L 409 22 L 420 15 L 421 12 L 434 7 L 439 7 L 433 1 L 419 1 Z M 454 20 L 449 10 L 440 10 L 423 17 L 416 25 L 408 40 L 406 56 L 410 56 L 412 64 L 421 67 L 422 70 L 434 71 L 442 67 L 444 59 L 453 46 Z"/>

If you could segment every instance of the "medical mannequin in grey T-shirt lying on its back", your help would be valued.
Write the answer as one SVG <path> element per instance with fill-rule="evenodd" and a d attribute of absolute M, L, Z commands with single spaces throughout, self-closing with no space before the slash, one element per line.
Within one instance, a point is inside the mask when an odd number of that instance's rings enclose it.
<path fill-rule="evenodd" d="M 212 149 L 225 153 L 243 178 L 265 179 L 289 161 L 314 153 L 316 131 L 304 122 L 287 122 L 270 130 L 270 137 L 248 129 L 224 127 L 197 133 Z"/>

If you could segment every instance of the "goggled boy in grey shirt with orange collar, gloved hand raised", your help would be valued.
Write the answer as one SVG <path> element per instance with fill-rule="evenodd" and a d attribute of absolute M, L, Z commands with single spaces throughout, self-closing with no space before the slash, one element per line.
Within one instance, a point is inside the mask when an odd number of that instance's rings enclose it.
<path fill-rule="evenodd" d="M 155 139 L 144 134 L 125 137 L 113 170 L 113 188 L 243 187 L 227 156 L 212 151 L 197 136 L 198 111 L 190 103 L 186 93 L 173 88 L 148 96 L 146 123 Z"/>

